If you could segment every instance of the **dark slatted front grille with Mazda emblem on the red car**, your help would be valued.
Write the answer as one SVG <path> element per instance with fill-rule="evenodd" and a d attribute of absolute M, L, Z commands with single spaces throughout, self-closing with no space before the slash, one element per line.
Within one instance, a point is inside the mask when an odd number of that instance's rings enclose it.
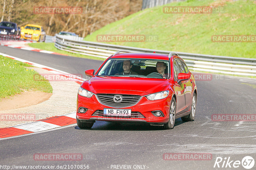
<path fill-rule="evenodd" d="M 121 95 L 123 96 L 123 101 L 120 103 L 115 103 L 113 101 L 113 97 L 116 94 L 97 94 L 97 97 L 100 103 L 105 104 L 107 106 L 121 108 L 121 107 L 128 107 L 136 104 L 141 96 L 138 95 Z"/>

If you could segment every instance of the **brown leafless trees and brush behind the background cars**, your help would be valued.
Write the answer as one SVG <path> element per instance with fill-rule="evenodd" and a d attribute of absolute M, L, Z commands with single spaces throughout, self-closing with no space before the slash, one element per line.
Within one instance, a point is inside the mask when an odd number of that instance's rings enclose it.
<path fill-rule="evenodd" d="M 101 27 L 140 11 L 142 0 L 0 0 L 1 21 L 42 25 L 46 34 L 60 31 L 86 35 Z M 82 14 L 37 14 L 35 7 L 82 7 Z"/>

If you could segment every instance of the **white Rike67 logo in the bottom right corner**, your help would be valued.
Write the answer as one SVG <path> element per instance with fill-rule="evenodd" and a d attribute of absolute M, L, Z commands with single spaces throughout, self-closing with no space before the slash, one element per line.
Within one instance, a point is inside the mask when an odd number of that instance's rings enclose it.
<path fill-rule="evenodd" d="M 217 157 L 214 163 L 214 168 L 238 168 L 242 165 L 245 169 L 251 169 L 254 166 L 254 159 L 251 156 L 245 156 L 242 161 L 232 160 L 230 157 Z"/>

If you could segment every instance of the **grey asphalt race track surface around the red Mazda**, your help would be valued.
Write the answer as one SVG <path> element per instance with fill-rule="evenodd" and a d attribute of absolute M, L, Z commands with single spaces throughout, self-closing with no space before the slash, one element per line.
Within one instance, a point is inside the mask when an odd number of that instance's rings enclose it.
<path fill-rule="evenodd" d="M 0 46 L 0 52 L 71 74 L 84 75 L 85 69 L 97 70 L 102 63 L 98 60 L 38 53 L 6 46 Z M 244 167 L 253 163 L 245 156 L 254 159 L 255 164 L 251 169 L 255 169 L 256 121 L 212 121 L 211 115 L 255 114 L 256 80 L 213 74 L 212 80 L 196 81 L 196 84 L 198 98 L 193 122 L 182 122 L 179 118 L 176 119 L 174 129 L 159 130 L 158 127 L 148 124 L 96 121 L 90 130 L 79 129 L 73 124 L 3 139 L 0 140 L 0 169 L 4 169 L 3 165 L 49 165 L 54 166 L 54 169 L 80 169 L 77 166 L 74 168 L 75 165 L 89 165 L 92 170 L 245 169 Z M 61 100 L 65 99 L 60 99 L 60 102 Z M 36 160 L 35 155 L 42 153 L 82 154 L 83 159 Z M 177 157 L 179 160 L 165 160 L 171 159 L 171 156 L 174 158 L 178 153 L 182 153 Z M 190 157 L 200 156 L 203 160 L 182 160 L 185 153 Z M 205 159 L 204 155 L 210 155 L 210 160 Z"/>

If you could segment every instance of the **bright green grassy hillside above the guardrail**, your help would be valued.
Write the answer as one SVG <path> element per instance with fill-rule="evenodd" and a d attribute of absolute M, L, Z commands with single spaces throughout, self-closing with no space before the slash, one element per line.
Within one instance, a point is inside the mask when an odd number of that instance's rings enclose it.
<path fill-rule="evenodd" d="M 256 2 L 253 0 L 188 0 L 164 6 L 213 6 L 210 14 L 165 14 L 163 6 L 134 13 L 85 37 L 97 41 L 101 34 L 156 35 L 154 42 L 106 42 L 110 44 L 256 58 L 256 42 L 212 42 L 212 35 L 256 35 Z M 223 12 L 215 12 L 221 9 Z"/>

